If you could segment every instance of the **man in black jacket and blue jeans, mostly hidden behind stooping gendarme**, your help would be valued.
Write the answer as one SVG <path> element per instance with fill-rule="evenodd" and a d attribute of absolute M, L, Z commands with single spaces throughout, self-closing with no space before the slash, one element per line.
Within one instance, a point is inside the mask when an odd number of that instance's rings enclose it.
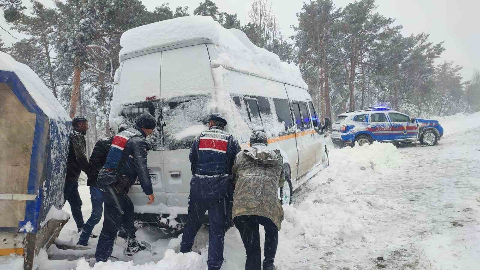
<path fill-rule="evenodd" d="M 118 133 L 124 130 L 126 130 L 126 128 L 121 126 Z M 97 235 L 92 234 L 92 231 L 95 225 L 98 224 L 102 218 L 103 195 L 102 191 L 96 184 L 96 178 L 98 177 L 98 172 L 100 172 L 100 169 L 102 169 L 103 165 L 105 164 L 105 161 L 107 161 L 108 150 L 110 150 L 113 137 L 114 136 L 98 140 L 93 148 L 92 155 L 88 160 L 87 186 L 90 186 L 92 214 L 90 215 L 88 221 L 85 222 L 84 229 L 82 230 L 82 234 L 78 239 L 77 245 L 88 245 L 88 238 L 97 237 Z"/>

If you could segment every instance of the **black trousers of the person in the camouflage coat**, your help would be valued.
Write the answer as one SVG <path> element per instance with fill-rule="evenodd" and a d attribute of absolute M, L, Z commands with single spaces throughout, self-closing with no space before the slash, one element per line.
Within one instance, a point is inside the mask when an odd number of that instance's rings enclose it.
<path fill-rule="evenodd" d="M 258 224 L 265 229 L 264 268 L 273 265 L 278 245 L 278 228 L 269 218 L 262 216 L 238 216 L 233 219 L 240 232 L 241 240 L 247 253 L 245 270 L 260 270 L 260 233 Z"/>

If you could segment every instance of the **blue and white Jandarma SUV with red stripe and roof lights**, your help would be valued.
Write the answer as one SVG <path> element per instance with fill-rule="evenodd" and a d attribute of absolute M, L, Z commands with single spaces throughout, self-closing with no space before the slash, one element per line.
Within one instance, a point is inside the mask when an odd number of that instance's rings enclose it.
<path fill-rule="evenodd" d="M 332 141 L 340 147 L 373 141 L 407 145 L 420 141 L 432 146 L 443 135 L 444 129 L 438 121 L 412 118 L 386 106 L 345 112 L 332 124 Z"/>

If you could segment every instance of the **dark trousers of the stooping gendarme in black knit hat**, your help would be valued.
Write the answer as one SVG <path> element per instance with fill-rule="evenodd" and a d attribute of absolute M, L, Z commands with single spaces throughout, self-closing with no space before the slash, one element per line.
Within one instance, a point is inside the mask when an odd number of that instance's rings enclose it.
<path fill-rule="evenodd" d="M 112 255 L 113 243 L 120 227 L 126 237 L 135 238 L 135 232 L 137 231 L 137 228 L 133 225 L 133 203 L 127 194 L 116 194 L 113 191 L 103 192 L 103 199 L 105 202 L 104 220 L 102 232 L 96 245 L 96 261 L 107 261 L 108 257 Z M 121 214 L 122 210 L 123 214 Z"/>

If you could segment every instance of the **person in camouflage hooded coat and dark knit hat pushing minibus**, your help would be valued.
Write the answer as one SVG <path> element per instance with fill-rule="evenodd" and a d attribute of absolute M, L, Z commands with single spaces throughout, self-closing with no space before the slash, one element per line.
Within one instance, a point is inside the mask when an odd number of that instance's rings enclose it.
<path fill-rule="evenodd" d="M 265 229 L 264 270 L 275 270 L 274 259 L 283 208 L 277 196 L 285 182 L 283 157 L 279 150 L 268 149 L 267 135 L 254 132 L 250 148 L 237 154 L 232 168 L 235 180 L 232 218 L 240 232 L 247 260 L 245 270 L 260 270 L 260 234 Z"/>

